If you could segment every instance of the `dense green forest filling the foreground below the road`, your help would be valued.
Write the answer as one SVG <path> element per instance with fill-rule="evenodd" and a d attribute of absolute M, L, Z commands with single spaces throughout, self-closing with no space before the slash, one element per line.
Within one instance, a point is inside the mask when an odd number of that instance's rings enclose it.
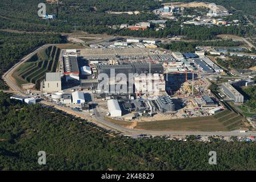
<path fill-rule="evenodd" d="M 0 170 L 255 170 L 256 143 L 110 134 L 80 118 L 0 92 Z M 46 152 L 46 165 L 38 152 Z M 209 151 L 217 165 L 209 165 Z"/>

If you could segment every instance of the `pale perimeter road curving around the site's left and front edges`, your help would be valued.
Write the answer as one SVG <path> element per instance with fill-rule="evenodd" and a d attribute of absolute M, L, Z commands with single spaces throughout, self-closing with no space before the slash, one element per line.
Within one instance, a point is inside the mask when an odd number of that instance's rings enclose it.
<path fill-rule="evenodd" d="M 44 46 L 36 49 L 35 51 L 30 53 L 29 55 L 25 56 L 22 60 L 19 61 L 19 63 L 15 64 L 9 71 L 7 71 L 3 75 L 3 80 L 6 81 L 6 83 L 10 86 L 11 89 L 14 90 L 15 93 L 19 93 L 20 95 L 24 96 L 24 93 L 22 92 L 22 89 L 20 89 L 19 86 L 16 85 L 16 82 L 10 78 L 11 74 L 13 74 L 15 69 L 18 68 L 20 64 L 27 61 L 34 53 L 36 53 L 36 51 L 39 51 L 40 49 L 43 49 L 44 47 L 51 46 L 51 45 L 44 45 Z M 7 92 L 10 92 L 10 91 L 7 91 Z M 94 103 L 93 94 L 92 94 L 92 102 Z M 51 102 L 42 101 L 42 104 L 54 106 L 54 107 L 56 107 L 56 109 L 66 111 L 67 113 L 73 114 L 76 117 L 84 118 L 87 121 L 93 122 L 96 125 L 104 128 L 106 130 L 117 131 L 119 133 L 122 133 L 123 135 L 130 135 L 131 137 L 137 137 L 140 134 L 152 135 L 152 136 L 159 136 L 159 135 L 183 135 L 183 136 L 184 135 L 201 135 L 201 136 L 221 135 L 221 136 L 236 136 L 236 137 L 238 137 L 238 136 L 241 136 L 241 137 L 254 136 L 254 137 L 256 137 L 255 132 L 240 133 L 239 131 L 225 131 L 225 132 L 221 132 L 221 131 L 213 131 L 213 132 L 203 132 L 203 131 L 152 131 L 152 130 L 129 129 L 129 128 L 122 127 L 122 126 L 119 126 L 119 125 L 116 125 L 114 123 L 106 121 L 104 119 L 104 117 L 102 115 L 100 115 L 100 113 L 98 112 L 97 107 L 93 109 L 94 110 L 94 116 L 88 117 L 87 115 L 76 112 L 76 111 L 73 111 L 72 109 L 70 109 L 68 107 L 59 106 L 59 105 L 53 104 Z"/>

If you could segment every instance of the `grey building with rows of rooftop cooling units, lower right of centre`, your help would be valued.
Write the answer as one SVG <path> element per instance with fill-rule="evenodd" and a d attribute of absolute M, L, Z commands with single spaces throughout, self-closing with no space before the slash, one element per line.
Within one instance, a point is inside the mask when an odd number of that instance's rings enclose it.
<path fill-rule="evenodd" d="M 159 96 L 156 100 L 160 113 L 174 113 L 175 105 L 170 96 Z"/>

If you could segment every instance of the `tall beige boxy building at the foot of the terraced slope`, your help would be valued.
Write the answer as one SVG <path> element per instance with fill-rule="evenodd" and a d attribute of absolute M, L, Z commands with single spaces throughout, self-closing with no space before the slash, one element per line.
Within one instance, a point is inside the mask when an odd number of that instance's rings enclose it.
<path fill-rule="evenodd" d="M 46 73 L 46 79 L 41 82 L 43 92 L 58 92 L 61 90 L 60 72 Z"/>

